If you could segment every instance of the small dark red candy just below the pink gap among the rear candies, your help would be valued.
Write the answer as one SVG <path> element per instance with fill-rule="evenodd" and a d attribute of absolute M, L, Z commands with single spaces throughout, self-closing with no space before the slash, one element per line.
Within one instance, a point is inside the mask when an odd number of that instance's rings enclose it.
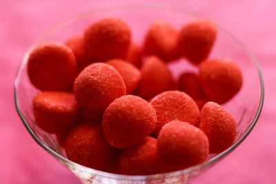
<path fill-rule="evenodd" d="M 178 90 L 186 92 L 193 100 L 205 99 L 197 74 L 185 72 L 178 81 Z"/>

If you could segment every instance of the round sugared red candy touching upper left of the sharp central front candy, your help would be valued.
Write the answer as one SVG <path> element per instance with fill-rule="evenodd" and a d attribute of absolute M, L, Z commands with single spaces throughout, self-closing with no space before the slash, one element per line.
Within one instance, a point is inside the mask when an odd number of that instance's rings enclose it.
<path fill-rule="evenodd" d="M 92 63 L 77 76 L 74 94 L 83 109 L 103 114 L 112 101 L 126 94 L 126 85 L 112 66 Z"/>

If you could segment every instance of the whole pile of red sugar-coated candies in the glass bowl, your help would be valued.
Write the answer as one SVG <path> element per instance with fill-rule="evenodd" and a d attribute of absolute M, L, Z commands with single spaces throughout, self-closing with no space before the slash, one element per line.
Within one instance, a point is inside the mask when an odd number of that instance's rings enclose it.
<path fill-rule="evenodd" d="M 233 145 L 237 125 L 222 103 L 242 87 L 230 59 L 207 59 L 217 27 L 204 19 L 177 31 L 153 23 L 139 48 L 124 21 L 101 19 L 66 43 L 28 57 L 37 125 L 57 134 L 68 159 L 96 170 L 148 175 L 182 170 Z M 172 79 L 185 57 L 198 73 Z M 177 84 L 177 85 L 175 85 Z"/>

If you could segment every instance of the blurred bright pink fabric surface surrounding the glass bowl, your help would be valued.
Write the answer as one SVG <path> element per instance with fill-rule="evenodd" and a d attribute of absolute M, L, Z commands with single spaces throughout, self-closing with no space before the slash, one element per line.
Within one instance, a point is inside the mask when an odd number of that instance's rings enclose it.
<path fill-rule="evenodd" d="M 66 3 L 65 3 L 66 2 Z M 148 1 L 137 1 L 147 4 Z M 262 68 L 265 103 L 248 138 L 192 183 L 276 183 L 276 1 L 162 1 L 193 10 L 232 32 L 255 54 Z M 14 108 L 13 83 L 24 52 L 66 17 L 135 1 L 19 1 L 0 3 L 0 183 L 81 183 L 35 143 Z M 160 1 L 150 1 L 150 5 Z"/>

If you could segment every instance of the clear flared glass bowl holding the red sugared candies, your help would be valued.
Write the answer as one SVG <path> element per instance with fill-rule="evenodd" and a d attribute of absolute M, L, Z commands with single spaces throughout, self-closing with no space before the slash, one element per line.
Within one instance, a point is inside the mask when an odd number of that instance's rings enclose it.
<path fill-rule="evenodd" d="M 64 43 L 75 34 L 81 34 L 90 23 L 103 17 L 119 17 L 126 21 L 132 29 L 132 40 L 138 45 L 141 45 L 146 31 L 154 21 L 168 21 L 179 30 L 185 23 L 197 18 L 195 15 L 184 10 L 149 6 L 124 6 L 91 10 L 90 12 L 72 17 L 68 21 L 57 25 L 57 27 L 53 28 L 37 43 L 32 45 L 30 50 L 36 45 L 46 41 L 59 41 Z M 34 141 L 43 147 L 46 152 L 54 156 L 62 165 L 68 167 L 69 170 L 81 178 L 83 183 L 186 183 L 196 176 L 199 176 L 205 170 L 208 170 L 208 168 L 235 150 L 253 130 L 259 114 L 262 111 L 264 84 L 262 72 L 255 57 L 235 37 L 219 27 L 217 39 L 209 58 L 228 57 L 239 65 L 243 74 L 242 89 L 233 99 L 223 105 L 226 110 L 233 114 L 237 121 L 237 138 L 235 139 L 235 143 L 220 154 L 210 154 L 205 163 L 176 172 L 148 176 L 126 176 L 93 170 L 66 159 L 66 154 L 59 147 L 55 135 L 43 132 L 43 130 L 37 127 L 32 113 L 32 98 L 39 90 L 34 88 L 30 83 L 26 70 L 30 50 L 23 57 L 17 79 L 14 83 L 14 100 L 17 112 Z M 197 71 L 197 67 L 191 65 L 185 59 L 179 59 L 179 61 L 169 63 L 168 67 L 175 79 L 177 79 L 181 72 Z"/>

